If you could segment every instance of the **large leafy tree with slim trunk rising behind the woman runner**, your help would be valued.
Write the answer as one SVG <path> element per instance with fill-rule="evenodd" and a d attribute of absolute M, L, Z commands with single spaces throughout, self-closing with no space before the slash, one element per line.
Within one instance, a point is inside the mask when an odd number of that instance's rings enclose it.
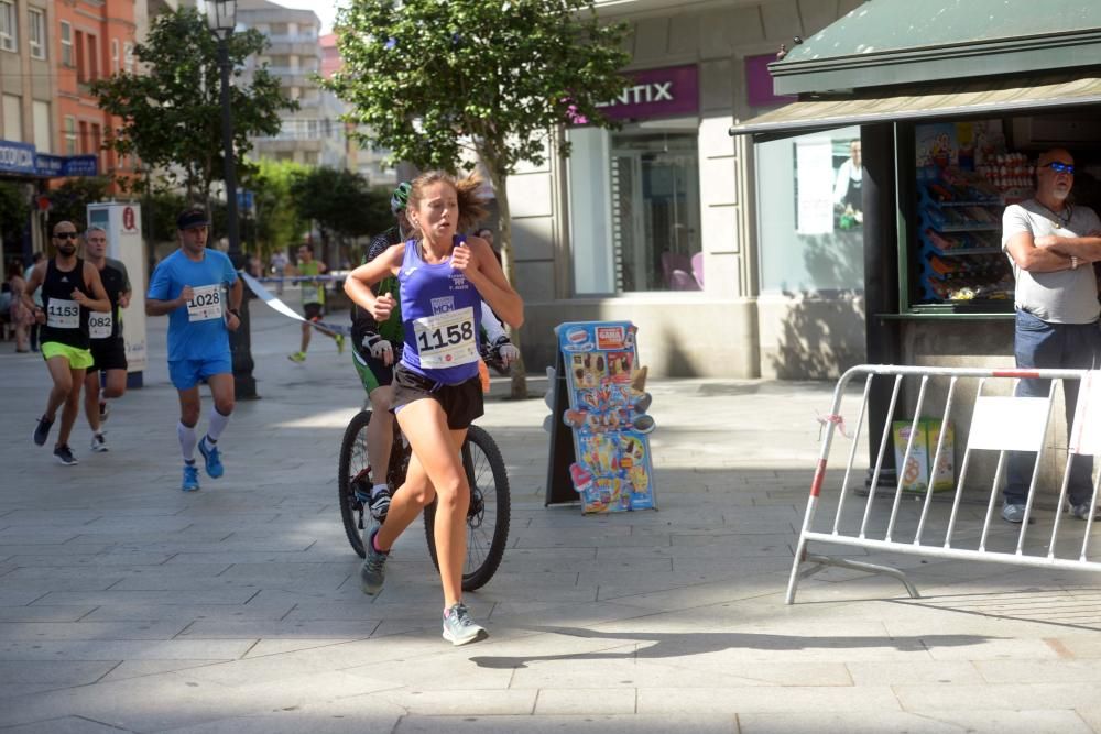
<path fill-rule="evenodd" d="M 337 25 L 345 66 L 327 87 L 352 105 L 348 121 L 422 168 L 470 169 L 477 155 L 514 282 L 508 177 L 556 147 L 568 155 L 555 138 L 578 116 L 613 127 L 598 105 L 625 86 L 625 26 L 601 24 L 592 0 L 350 0 Z"/>

